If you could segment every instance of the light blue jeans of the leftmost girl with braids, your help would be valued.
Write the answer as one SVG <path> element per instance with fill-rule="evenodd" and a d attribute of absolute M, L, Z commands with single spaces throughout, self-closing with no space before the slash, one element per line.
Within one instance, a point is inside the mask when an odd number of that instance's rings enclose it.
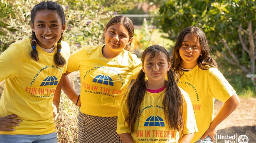
<path fill-rule="evenodd" d="M 0 134 L 0 143 L 58 143 L 56 132 L 43 135 Z"/>

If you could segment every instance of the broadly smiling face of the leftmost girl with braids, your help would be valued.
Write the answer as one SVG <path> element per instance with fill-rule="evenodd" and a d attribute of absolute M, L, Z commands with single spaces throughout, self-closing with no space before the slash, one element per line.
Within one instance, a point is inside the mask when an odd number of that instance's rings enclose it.
<path fill-rule="evenodd" d="M 41 10 L 36 13 L 31 27 L 36 34 L 37 44 L 50 49 L 61 38 L 66 24 L 62 25 L 61 18 L 54 10 Z"/>

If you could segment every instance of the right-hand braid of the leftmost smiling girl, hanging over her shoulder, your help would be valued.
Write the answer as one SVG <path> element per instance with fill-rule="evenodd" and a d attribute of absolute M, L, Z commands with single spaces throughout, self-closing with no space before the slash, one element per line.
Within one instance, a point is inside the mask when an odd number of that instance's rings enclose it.
<path fill-rule="evenodd" d="M 65 58 L 61 56 L 61 40 L 62 40 L 62 33 L 61 33 L 61 38 L 59 38 L 59 41 L 57 42 L 57 53 L 54 56 L 54 63 L 60 67 L 64 67 L 66 64 Z"/>

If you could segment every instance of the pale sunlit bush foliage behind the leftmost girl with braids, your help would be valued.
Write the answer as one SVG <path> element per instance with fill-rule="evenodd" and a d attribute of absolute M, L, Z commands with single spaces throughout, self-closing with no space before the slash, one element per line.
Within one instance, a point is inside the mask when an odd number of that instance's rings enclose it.
<path fill-rule="evenodd" d="M 31 35 L 30 11 L 42 0 L 0 1 L 0 53 L 24 36 Z M 61 4 L 66 15 L 63 40 L 71 52 L 81 45 L 102 44 L 104 26 L 113 13 L 122 13 L 131 7 L 132 0 L 52 0 Z M 139 0 L 135 0 L 138 2 Z"/>

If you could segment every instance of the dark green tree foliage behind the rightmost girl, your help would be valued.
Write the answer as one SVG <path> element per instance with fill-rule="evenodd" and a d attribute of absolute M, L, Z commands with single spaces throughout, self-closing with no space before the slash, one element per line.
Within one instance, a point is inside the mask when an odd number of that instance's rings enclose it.
<path fill-rule="evenodd" d="M 253 35 L 253 40 L 246 34 L 254 33 L 256 29 L 255 0 L 164 0 L 157 24 L 168 34 L 166 38 L 172 40 L 184 28 L 199 25 L 208 36 L 211 47 L 223 51 L 227 61 L 238 65 L 245 73 L 255 72 L 255 65 L 251 63 L 255 61 L 255 46 L 251 41 L 255 41 L 256 36 Z M 246 52 L 242 42 L 249 49 Z"/>

